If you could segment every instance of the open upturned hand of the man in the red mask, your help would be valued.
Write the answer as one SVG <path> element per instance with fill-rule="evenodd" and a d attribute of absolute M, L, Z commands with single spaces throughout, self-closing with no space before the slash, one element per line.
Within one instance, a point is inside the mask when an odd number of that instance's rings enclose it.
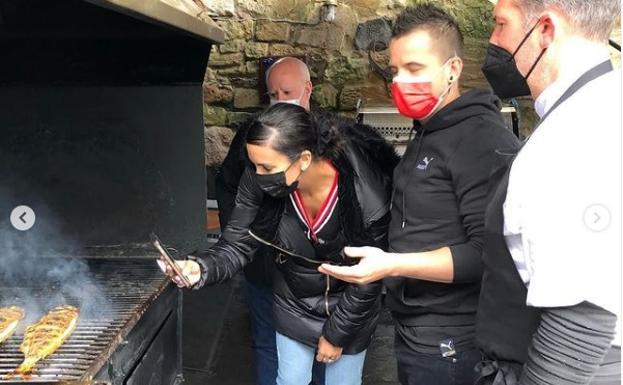
<path fill-rule="evenodd" d="M 360 258 L 355 266 L 334 266 L 322 264 L 318 271 L 337 279 L 357 284 L 365 284 L 393 274 L 396 257 L 376 247 L 345 247 L 344 253 L 350 258 Z"/>

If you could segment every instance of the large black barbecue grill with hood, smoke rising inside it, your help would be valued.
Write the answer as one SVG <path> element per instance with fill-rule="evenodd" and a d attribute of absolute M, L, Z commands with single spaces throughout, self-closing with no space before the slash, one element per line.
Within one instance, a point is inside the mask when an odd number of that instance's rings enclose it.
<path fill-rule="evenodd" d="M 181 292 L 147 242 L 207 246 L 202 83 L 223 38 L 161 0 L 0 0 L 0 305 L 28 318 L 0 345 L 0 384 L 182 381 Z M 24 326 L 63 304 L 80 309 L 69 340 L 3 377 Z"/>

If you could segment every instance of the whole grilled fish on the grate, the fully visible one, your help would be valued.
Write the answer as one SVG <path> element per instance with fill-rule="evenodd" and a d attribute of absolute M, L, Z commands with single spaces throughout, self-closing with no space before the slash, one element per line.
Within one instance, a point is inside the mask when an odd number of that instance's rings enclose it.
<path fill-rule="evenodd" d="M 79 311 L 73 306 L 59 306 L 26 328 L 20 350 L 24 362 L 14 374 L 29 376 L 39 360 L 54 353 L 73 333 L 78 323 Z"/>

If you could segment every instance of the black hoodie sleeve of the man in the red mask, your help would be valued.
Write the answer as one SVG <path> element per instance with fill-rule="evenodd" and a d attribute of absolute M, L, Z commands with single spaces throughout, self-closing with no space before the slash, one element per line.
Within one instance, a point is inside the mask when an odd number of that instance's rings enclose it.
<path fill-rule="evenodd" d="M 481 124 L 492 123 L 482 121 Z M 495 150 L 519 146 L 517 138 L 502 126 L 494 125 L 485 132 L 486 135 L 466 134 L 448 162 L 467 235 L 466 242 L 450 246 L 454 283 L 479 282 L 482 277 L 484 214 Z"/>

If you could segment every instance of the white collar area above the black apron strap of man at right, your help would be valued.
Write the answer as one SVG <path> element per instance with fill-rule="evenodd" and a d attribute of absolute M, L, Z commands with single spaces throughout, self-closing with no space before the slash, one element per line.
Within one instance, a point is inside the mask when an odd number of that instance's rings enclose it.
<path fill-rule="evenodd" d="M 552 108 L 552 106 L 562 97 L 569 87 L 586 71 L 595 67 L 599 63 L 602 63 L 609 59 L 606 54 L 591 55 L 582 54 L 576 55 L 575 61 L 567 61 L 564 68 L 561 68 L 561 73 L 553 83 L 551 83 L 534 102 L 534 109 L 540 118 L 543 118 L 545 114 Z M 563 61 L 564 62 L 564 61 Z M 573 64 L 571 64 L 573 63 Z M 564 72 L 562 72 L 564 70 Z"/>

